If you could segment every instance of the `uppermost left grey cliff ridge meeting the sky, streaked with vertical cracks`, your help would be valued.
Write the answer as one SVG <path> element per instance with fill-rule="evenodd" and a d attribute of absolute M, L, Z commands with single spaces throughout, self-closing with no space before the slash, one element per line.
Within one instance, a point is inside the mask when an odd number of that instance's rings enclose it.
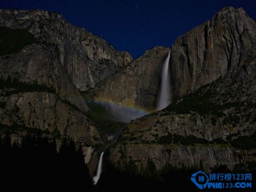
<path fill-rule="evenodd" d="M 60 14 L 44 10 L 0 10 L 0 25 L 25 28 L 54 45 L 64 70 L 76 87 L 88 90 L 132 61 L 102 38 L 68 23 Z"/>

